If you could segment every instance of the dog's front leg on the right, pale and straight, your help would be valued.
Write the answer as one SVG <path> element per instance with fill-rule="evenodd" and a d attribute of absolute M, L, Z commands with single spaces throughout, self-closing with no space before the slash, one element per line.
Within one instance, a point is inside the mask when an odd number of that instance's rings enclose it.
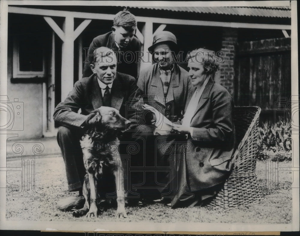
<path fill-rule="evenodd" d="M 121 159 L 117 159 L 116 170 L 114 172 L 115 181 L 116 181 L 116 189 L 117 189 L 117 214 L 116 217 L 127 217 L 125 210 L 125 191 L 124 191 L 124 174 Z"/>

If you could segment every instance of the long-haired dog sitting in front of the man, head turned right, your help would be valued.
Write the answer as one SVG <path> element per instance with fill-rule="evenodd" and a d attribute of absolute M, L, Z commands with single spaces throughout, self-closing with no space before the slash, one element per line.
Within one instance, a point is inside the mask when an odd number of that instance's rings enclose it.
<path fill-rule="evenodd" d="M 129 120 L 112 107 L 100 107 L 88 116 L 85 121 L 87 131 L 80 141 L 87 172 L 82 187 L 85 203 L 83 208 L 73 211 L 73 216 L 86 214 L 88 218 L 97 217 L 98 204 L 106 200 L 110 202 L 107 195 L 116 192 L 116 217 L 127 217 L 123 167 L 119 152 L 116 150 L 120 143 L 118 134 L 121 130 L 125 130 L 129 123 Z M 67 210 L 78 207 L 80 205 L 78 198 L 61 201 L 58 208 Z"/>

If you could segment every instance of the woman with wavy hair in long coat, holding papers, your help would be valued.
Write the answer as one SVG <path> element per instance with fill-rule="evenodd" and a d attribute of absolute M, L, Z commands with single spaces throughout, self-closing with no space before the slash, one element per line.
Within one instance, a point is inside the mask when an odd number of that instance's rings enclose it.
<path fill-rule="evenodd" d="M 182 124 L 174 127 L 178 134 L 175 156 L 182 165 L 174 164 L 177 172 L 171 182 L 177 186 L 166 195 L 171 197 L 173 208 L 205 204 L 217 194 L 233 168 L 234 104 L 229 92 L 212 79 L 219 59 L 200 48 L 191 52 L 188 60 L 189 77 L 196 90 Z"/>

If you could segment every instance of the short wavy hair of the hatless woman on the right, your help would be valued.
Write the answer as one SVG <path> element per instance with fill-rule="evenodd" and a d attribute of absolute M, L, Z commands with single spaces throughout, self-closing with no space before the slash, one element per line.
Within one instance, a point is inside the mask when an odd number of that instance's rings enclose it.
<path fill-rule="evenodd" d="M 219 70 L 218 57 L 215 52 L 206 48 L 198 48 L 189 53 L 188 59 L 203 63 L 206 74 L 214 74 Z"/>

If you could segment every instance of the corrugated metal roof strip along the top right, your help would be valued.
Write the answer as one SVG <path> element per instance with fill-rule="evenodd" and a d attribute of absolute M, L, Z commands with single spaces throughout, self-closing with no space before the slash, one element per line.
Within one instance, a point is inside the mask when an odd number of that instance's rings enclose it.
<path fill-rule="evenodd" d="M 195 12 L 210 14 L 225 14 L 237 16 L 280 17 L 291 18 L 291 9 L 288 6 L 280 7 L 130 7 L 151 10 L 166 10 L 178 12 Z"/>

